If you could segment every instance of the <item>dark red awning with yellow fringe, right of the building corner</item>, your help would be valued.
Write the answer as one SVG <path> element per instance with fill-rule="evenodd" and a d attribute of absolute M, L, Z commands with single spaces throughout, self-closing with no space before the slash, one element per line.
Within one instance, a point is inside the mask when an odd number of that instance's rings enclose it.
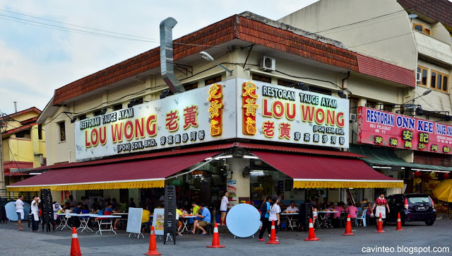
<path fill-rule="evenodd" d="M 403 187 L 362 160 L 252 151 L 262 161 L 294 179 L 294 187 Z"/>

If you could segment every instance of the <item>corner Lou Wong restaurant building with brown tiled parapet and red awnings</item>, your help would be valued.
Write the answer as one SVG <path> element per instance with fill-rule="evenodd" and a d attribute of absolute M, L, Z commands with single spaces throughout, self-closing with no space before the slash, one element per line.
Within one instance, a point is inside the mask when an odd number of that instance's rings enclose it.
<path fill-rule="evenodd" d="M 8 190 L 145 202 L 176 185 L 179 203 L 212 206 L 226 190 L 232 205 L 403 190 L 348 150 L 347 95 L 400 102 L 413 70 L 249 12 L 162 45 L 57 89 L 38 120 L 49 166 Z"/>

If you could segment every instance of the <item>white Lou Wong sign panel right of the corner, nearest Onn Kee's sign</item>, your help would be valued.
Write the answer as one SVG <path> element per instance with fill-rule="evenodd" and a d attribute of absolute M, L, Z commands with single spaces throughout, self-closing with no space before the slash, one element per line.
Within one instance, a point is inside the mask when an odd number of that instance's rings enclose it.
<path fill-rule="evenodd" d="M 237 91 L 237 137 L 348 148 L 348 100 L 240 78 Z"/>

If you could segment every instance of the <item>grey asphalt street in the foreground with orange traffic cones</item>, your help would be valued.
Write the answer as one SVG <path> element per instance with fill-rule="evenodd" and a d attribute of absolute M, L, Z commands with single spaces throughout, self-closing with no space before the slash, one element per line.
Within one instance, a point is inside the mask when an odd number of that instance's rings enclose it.
<path fill-rule="evenodd" d="M 0 223 L 0 255 L 69 255 L 71 250 L 71 231 L 51 233 L 32 233 L 26 223 L 25 231 L 17 230 L 16 222 Z M 206 248 L 212 243 L 212 235 L 184 235 L 177 237 L 177 243 L 163 244 L 157 238 L 157 250 L 162 255 L 419 255 L 415 248 L 425 248 L 430 252 L 422 255 L 451 255 L 452 220 L 439 220 L 433 226 L 424 223 L 410 223 L 403 231 L 395 226 L 386 227 L 386 233 L 375 233 L 375 226 L 354 227 L 355 235 L 342 235 L 343 228 L 316 231 L 318 241 L 304 241 L 308 234 L 296 231 L 280 231 L 279 245 L 268 245 L 254 238 L 234 238 L 226 228 L 220 228 L 220 243 L 225 248 Z M 95 235 L 90 232 L 78 233 L 82 255 L 143 255 L 148 252 L 149 237 L 131 238 L 125 231 Z M 268 236 L 265 237 L 268 240 Z M 162 238 L 161 238 L 162 239 Z M 385 246 L 388 253 L 384 253 Z M 430 247 L 430 249 L 428 249 Z M 448 252 L 433 253 L 434 247 Z M 391 249 L 392 248 L 392 249 Z M 391 253 L 393 250 L 393 253 Z M 363 252 L 364 251 L 364 252 Z M 365 253 L 365 252 L 369 253 Z"/>

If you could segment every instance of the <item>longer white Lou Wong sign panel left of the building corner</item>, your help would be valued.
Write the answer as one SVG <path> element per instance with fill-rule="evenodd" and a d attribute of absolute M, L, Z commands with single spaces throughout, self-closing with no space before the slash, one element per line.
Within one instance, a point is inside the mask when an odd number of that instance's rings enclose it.
<path fill-rule="evenodd" d="M 76 160 L 234 138 L 235 88 L 225 81 L 76 122 Z"/>

